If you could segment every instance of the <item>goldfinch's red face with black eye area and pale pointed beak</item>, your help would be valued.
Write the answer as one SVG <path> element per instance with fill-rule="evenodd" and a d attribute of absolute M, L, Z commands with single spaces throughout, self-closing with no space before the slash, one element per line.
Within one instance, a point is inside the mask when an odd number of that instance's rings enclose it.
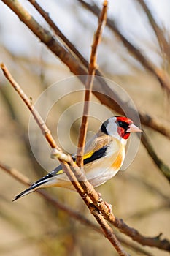
<path fill-rule="evenodd" d="M 116 116 L 117 132 L 121 138 L 127 140 L 131 132 L 142 132 L 139 127 L 134 125 L 131 119 L 125 116 Z"/>

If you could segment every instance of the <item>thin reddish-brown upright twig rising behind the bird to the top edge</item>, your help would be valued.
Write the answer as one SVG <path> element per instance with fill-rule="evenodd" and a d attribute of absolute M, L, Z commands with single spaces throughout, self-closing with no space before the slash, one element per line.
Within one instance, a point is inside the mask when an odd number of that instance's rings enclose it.
<path fill-rule="evenodd" d="M 90 95 L 93 88 L 93 79 L 94 75 L 96 73 L 96 59 L 97 59 L 97 48 L 98 44 L 101 40 L 101 34 L 102 34 L 102 27 L 104 26 L 104 23 L 106 23 L 107 19 L 107 1 L 104 1 L 103 9 L 101 11 L 101 15 L 98 18 L 98 29 L 96 30 L 96 34 L 93 38 L 93 45 L 91 48 L 91 54 L 90 54 L 90 64 L 88 67 L 88 78 L 86 80 L 86 86 L 85 86 L 85 100 L 84 100 L 84 109 L 82 114 L 82 124 L 80 126 L 80 135 L 78 140 L 78 148 L 77 148 L 77 165 L 82 167 L 83 165 L 83 159 L 82 156 L 84 154 L 84 148 L 85 148 L 85 140 L 86 140 L 86 134 L 88 130 L 88 111 L 89 111 L 89 105 L 90 105 Z"/>

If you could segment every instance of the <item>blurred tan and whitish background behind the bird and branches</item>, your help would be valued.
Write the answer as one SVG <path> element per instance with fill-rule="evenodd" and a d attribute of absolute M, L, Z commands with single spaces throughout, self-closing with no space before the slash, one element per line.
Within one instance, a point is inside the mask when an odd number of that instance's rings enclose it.
<path fill-rule="evenodd" d="M 49 13 L 63 34 L 89 61 L 93 33 L 98 19 L 82 1 L 38 1 Z M 163 34 L 161 44 L 158 31 L 150 21 L 150 13 L 144 10 L 147 4 L 152 17 Z M 23 7 L 49 29 L 45 20 L 28 1 L 20 1 Z M 87 1 L 90 6 L 101 9 L 102 1 Z M 161 70 L 169 81 L 169 29 L 170 2 L 115 0 L 109 1 L 108 18 L 131 45 Z M 161 31 L 161 32 L 160 32 Z M 167 43 L 167 44 L 166 44 Z M 166 46 L 166 47 L 165 47 Z M 0 2 L 0 61 L 3 61 L 31 102 L 39 102 L 39 111 L 47 111 L 45 119 L 58 145 L 63 151 L 74 153 L 82 114 L 83 86 L 69 68 L 50 52 L 19 18 Z M 98 67 L 104 77 L 125 91 L 136 108 L 154 118 L 162 125 L 170 124 L 169 90 L 161 87 L 158 79 L 148 71 L 142 61 L 129 51 L 115 31 L 108 26 L 98 48 Z M 56 100 L 49 106 L 45 91 L 56 85 Z M 168 83 L 167 83 L 168 84 Z M 72 90 L 67 91 L 66 86 Z M 69 87 L 70 88 L 70 87 Z M 69 89 L 68 89 L 69 90 Z M 47 92 L 47 91 L 46 91 Z M 45 94 L 45 98 L 42 96 Z M 51 94 L 50 94 L 51 96 Z M 43 100 L 42 100 L 43 99 Z M 88 138 L 97 132 L 101 121 L 117 114 L 101 105 L 92 96 Z M 51 104 L 51 103 L 50 103 Z M 39 128 L 31 127 L 30 113 L 0 72 L 0 162 L 15 167 L 31 181 L 47 174 L 57 162 L 50 159 L 50 148 Z M 33 125 L 34 126 L 34 125 Z M 34 130 L 35 129 L 35 130 Z M 169 138 L 143 127 L 158 157 L 170 166 Z M 28 136 L 28 133 L 31 135 Z M 30 146 L 31 141 L 31 146 Z M 32 147 L 32 148 L 31 148 Z M 137 151 L 137 148 L 136 148 Z M 47 200 L 33 193 L 12 203 L 26 186 L 0 169 L 0 255 L 117 255 L 107 239 L 90 227 L 72 219 L 68 214 L 52 206 Z M 142 145 L 125 172 L 119 172 L 107 184 L 96 189 L 104 200 L 112 204 L 113 212 L 128 225 L 135 227 L 144 236 L 170 238 L 169 181 L 155 166 Z M 81 198 L 65 189 L 47 189 L 59 201 L 74 208 L 92 222 Z M 120 234 L 121 235 L 121 234 Z M 122 235 L 123 238 L 125 236 Z M 127 241 L 131 239 L 126 238 Z M 142 248 L 142 246 L 139 246 Z M 127 249 L 125 247 L 125 249 Z M 168 255 L 155 248 L 145 247 L 150 255 Z M 128 248 L 131 255 L 139 255 Z M 144 254 L 142 254 L 144 255 Z M 149 254 L 147 254 L 149 255 Z"/>

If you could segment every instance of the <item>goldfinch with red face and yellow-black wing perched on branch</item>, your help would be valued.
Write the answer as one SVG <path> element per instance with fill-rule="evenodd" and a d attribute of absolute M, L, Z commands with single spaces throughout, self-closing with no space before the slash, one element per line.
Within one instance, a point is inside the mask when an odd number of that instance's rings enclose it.
<path fill-rule="evenodd" d="M 131 132 L 142 132 L 134 122 L 125 116 L 112 116 L 101 124 L 96 135 L 85 145 L 83 171 L 93 187 L 104 184 L 120 170 L 125 159 L 125 144 Z M 76 154 L 72 159 L 76 162 Z M 59 165 L 46 176 L 34 182 L 31 187 L 16 195 L 17 200 L 36 189 L 63 187 L 74 190 L 74 186 L 62 166 Z"/>

